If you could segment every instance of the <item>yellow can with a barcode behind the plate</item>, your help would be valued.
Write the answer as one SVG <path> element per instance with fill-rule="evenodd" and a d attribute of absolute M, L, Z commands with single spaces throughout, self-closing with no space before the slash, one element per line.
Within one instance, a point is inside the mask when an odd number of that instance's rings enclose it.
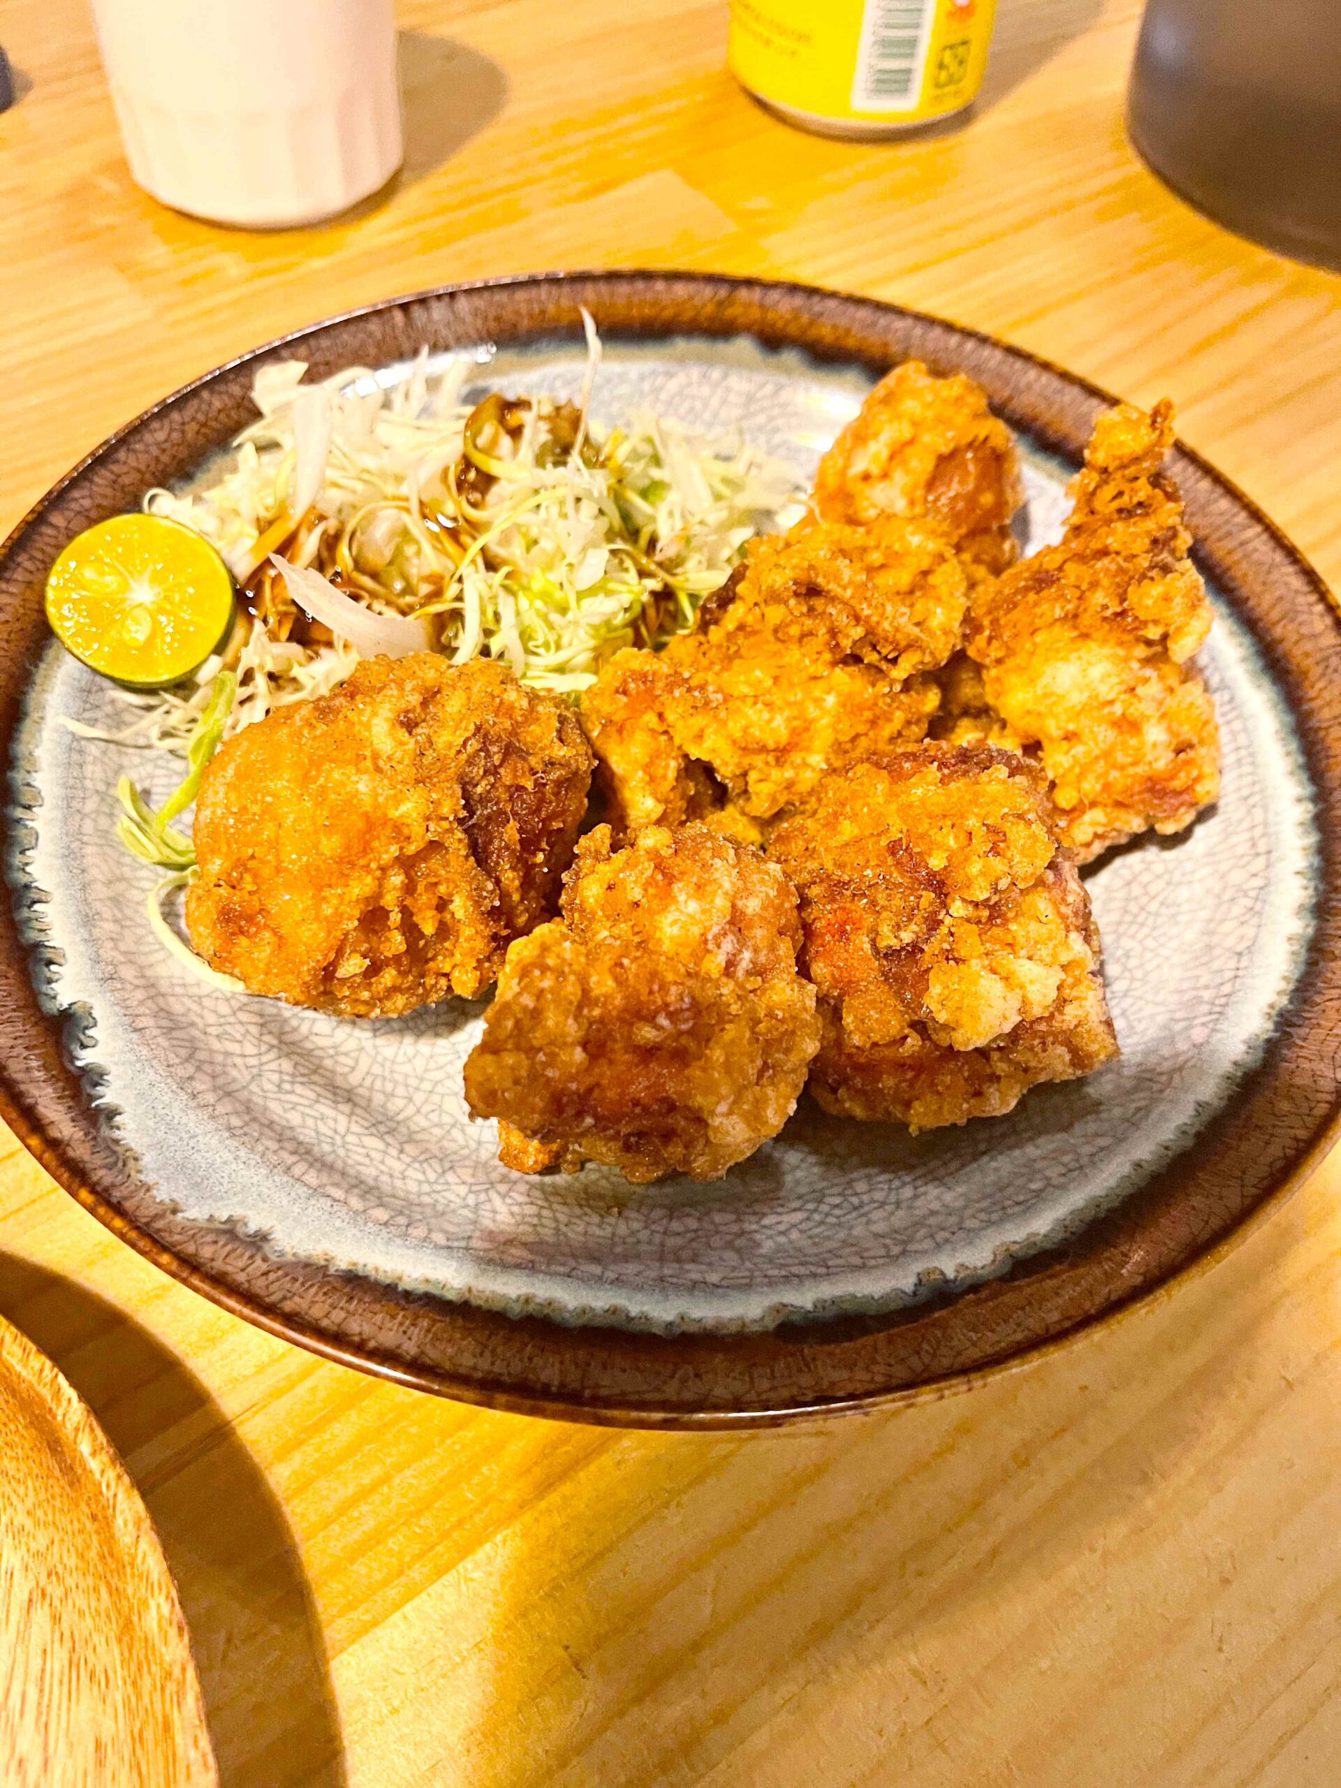
<path fill-rule="evenodd" d="M 894 136 L 973 104 L 996 0 L 731 0 L 728 59 L 824 136 Z"/>

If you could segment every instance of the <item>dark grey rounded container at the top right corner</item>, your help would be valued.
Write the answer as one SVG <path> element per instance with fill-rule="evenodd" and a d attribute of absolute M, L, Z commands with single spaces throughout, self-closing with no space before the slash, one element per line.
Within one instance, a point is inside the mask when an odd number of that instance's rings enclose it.
<path fill-rule="evenodd" d="M 1148 0 L 1128 129 L 1216 222 L 1341 268 L 1341 0 Z"/>

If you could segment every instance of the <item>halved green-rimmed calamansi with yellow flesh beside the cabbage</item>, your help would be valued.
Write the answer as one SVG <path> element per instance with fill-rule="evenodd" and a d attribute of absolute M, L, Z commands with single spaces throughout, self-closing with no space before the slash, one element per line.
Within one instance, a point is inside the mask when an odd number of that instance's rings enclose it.
<path fill-rule="evenodd" d="M 222 645 L 232 578 L 215 547 L 166 515 L 113 515 L 75 535 L 46 578 L 46 619 L 68 651 L 134 688 L 175 683 Z"/>

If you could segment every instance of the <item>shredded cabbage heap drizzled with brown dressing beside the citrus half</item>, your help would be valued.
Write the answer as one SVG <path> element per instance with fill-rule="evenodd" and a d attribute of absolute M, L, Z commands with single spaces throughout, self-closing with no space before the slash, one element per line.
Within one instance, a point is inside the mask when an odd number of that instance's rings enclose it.
<path fill-rule="evenodd" d="M 224 654 L 154 692 L 118 690 L 118 730 L 82 737 L 184 753 L 222 669 L 236 676 L 224 737 L 336 688 L 354 644 L 297 617 L 272 554 L 325 576 L 372 615 L 417 617 L 456 663 L 501 658 L 556 694 L 592 683 L 629 644 L 694 620 L 746 542 L 797 502 L 790 468 L 735 436 L 651 413 L 592 413 L 601 343 L 590 316 L 579 404 L 461 390 L 476 363 L 429 375 L 427 349 L 386 388 L 365 367 L 320 384 L 302 361 L 256 374 L 257 420 L 207 488 L 150 490 L 145 510 L 220 549 L 249 613 Z M 377 629 L 368 629 L 370 637 Z"/>

